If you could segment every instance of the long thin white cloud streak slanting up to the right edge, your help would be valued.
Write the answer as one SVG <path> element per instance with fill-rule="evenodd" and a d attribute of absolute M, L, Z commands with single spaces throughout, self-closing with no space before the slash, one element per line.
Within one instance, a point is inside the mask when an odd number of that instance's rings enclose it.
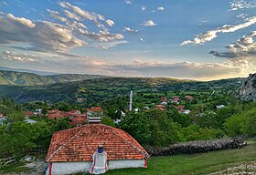
<path fill-rule="evenodd" d="M 186 40 L 181 45 L 187 45 L 187 44 L 204 44 L 208 41 L 211 41 L 212 39 L 217 37 L 218 33 L 229 33 L 229 32 L 235 32 L 237 30 L 240 30 L 242 28 L 246 28 L 248 26 L 254 25 L 256 23 L 256 16 L 253 16 L 251 18 L 245 19 L 245 22 L 237 25 L 237 26 L 230 26 L 230 25 L 224 25 L 219 28 L 209 30 L 205 33 L 197 35 L 192 40 Z"/>

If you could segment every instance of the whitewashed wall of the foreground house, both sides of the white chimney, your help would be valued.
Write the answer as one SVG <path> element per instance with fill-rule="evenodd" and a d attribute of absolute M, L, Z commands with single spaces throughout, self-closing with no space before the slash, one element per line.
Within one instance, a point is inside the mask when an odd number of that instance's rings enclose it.
<path fill-rule="evenodd" d="M 53 162 L 51 174 L 52 175 L 68 175 L 78 172 L 88 173 L 92 161 L 78 161 L 78 162 Z M 108 170 L 124 169 L 124 168 L 139 168 L 144 167 L 144 160 L 109 160 Z M 48 170 L 46 175 L 48 175 Z"/>

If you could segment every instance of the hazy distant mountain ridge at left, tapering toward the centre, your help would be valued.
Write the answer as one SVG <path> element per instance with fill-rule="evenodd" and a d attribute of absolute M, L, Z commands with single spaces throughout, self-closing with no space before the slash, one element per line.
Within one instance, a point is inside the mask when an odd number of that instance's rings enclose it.
<path fill-rule="evenodd" d="M 100 75 L 59 74 L 40 76 L 27 72 L 0 70 L 0 85 L 34 86 L 102 78 Z"/>

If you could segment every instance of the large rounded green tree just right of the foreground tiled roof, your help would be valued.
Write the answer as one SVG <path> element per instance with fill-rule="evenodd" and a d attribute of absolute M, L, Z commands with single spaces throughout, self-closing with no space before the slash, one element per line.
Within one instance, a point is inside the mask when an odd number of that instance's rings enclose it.
<path fill-rule="evenodd" d="M 164 146 L 179 141 L 179 126 L 160 110 L 129 113 L 123 118 L 121 129 L 142 144 Z"/>

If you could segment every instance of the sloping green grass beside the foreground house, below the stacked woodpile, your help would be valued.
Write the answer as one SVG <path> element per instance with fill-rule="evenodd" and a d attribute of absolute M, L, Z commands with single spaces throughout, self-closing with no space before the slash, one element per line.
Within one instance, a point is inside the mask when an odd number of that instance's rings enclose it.
<path fill-rule="evenodd" d="M 208 174 L 226 170 L 242 163 L 256 161 L 256 141 L 243 149 L 229 149 L 197 155 L 178 155 L 150 158 L 147 169 L 109 170 L 108 175 L 175 175 L 175 174 Z"/>

